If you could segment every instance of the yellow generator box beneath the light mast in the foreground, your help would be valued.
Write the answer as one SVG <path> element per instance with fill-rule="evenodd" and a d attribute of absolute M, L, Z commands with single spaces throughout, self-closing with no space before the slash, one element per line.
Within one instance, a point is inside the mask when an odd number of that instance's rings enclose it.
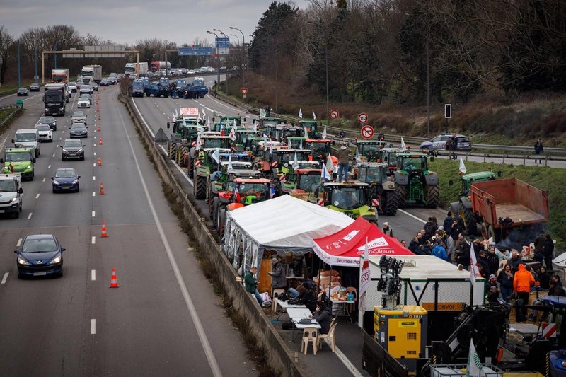
<path fill-rule="evenodd" d="M 374 306 L 376 342 L 410 371 L 415 371 L 417 359 L 424 357 L 427 321 L 428 314 L 422 306 Z"/>

